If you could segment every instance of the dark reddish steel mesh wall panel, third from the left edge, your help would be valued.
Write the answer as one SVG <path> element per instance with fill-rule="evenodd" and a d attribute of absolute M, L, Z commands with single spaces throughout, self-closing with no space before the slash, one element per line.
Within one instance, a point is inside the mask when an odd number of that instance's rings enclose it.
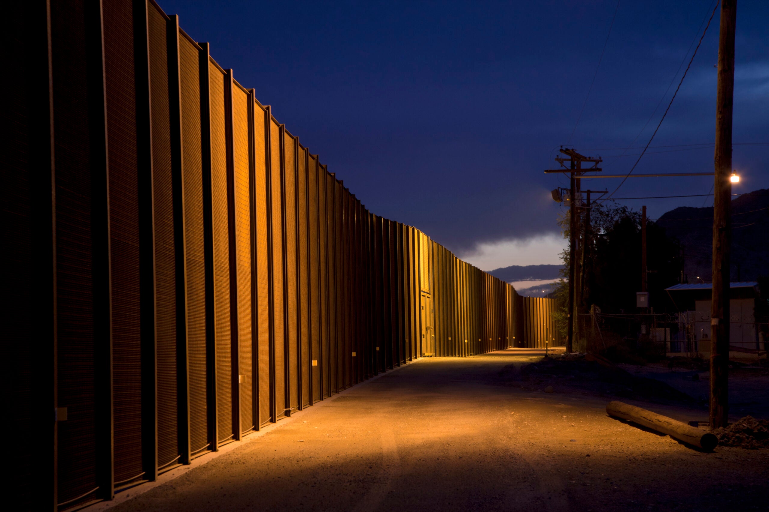
<path fill-rule="evenodd" d="M 145 471 L 141 444 L 141 292 L 139 269 L 147 263 L 140 247 L 140 179 L 138 164 L 151 164 L 139 154 L 145 144 L 138 134 L 137 95 L 147 84 L 135 84 L 131 5 L 103 7 L 104 60 L 109 149 L 109 230 L 112 305 L 112 385 L 115 481 L 132 481 Z M 130 84 L 125 82 L 130 81 Z M 137 91 L 137 89 L 139 89 Z M 137 104 L 138 103 L 138 104 Z M 146 119 L 141 119 L 146 122 Z M 141 127 L 146 132 L 146 127 Z M 150 198 L 151 200 L 151 198 Z M 146 208 L 146 206 L 145 206 Z M 151 229 L 151 228 L 150 228 Z M 151 246 L 150 246 L 151 250 Z M 145 256 L 141 258 L 141 256 Z M 142 259 L 140 263 L 140 258 Z M 151 258 L 151 256 L 150 256 Z M 144 283 L 142 283 L 144 284 Z M 152 291 L 145 300 L 152 301 Z M 154 343 L 154 339 L 147 339 Z"/>

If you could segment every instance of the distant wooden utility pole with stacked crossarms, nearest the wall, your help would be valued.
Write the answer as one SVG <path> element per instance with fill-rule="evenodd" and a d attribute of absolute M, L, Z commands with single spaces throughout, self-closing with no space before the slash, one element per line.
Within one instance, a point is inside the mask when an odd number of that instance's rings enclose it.
<path fill-rule="evenodd" d="M 555 161 L 557 161 L 561 166 L 563 166 L 562 169 L 556 169 L 556 170 L 545 170 L 545 173 L 570 173 L 571 179 L 569 180 L 570 188 L 569 188 L 569 300 L 568 300 L 568 327 L 567 327 L 567 336 L 566 336 L 566 352 L 573 352 L 574 348 L 574 299 L 575 295 L 578 292 L 578 286 L 576 286 L 576 282 L 578 280 L 578 269 L 576 268 L 579 259 L 578 259 L 578 249 L 577 249 L 577 239 L 578 239 L 578 231 L 579 231 L 579 222 L 578 222 L 578 210 L 577 210 L 577 194 L 579 190 L 579 179 L 584 172 L 586 171 L 600 171 L 601 169 L 598 168 L 598 164 L 602 162 L 601 158 L 591 158 L 591 157 L 585 157 L 584 155 L 578 154 L 574 149 L 564 149 L 561 147 L 561 153 L 568 155 L 568 158 L 563 157 L 557 157 Z M 569 162 L 569 167 L 565 167 L 564 163 Z M 587 169 L 582 168 L 582 162 L 592 162 L 594 163 L 593 167 L 589 167 Z"/>

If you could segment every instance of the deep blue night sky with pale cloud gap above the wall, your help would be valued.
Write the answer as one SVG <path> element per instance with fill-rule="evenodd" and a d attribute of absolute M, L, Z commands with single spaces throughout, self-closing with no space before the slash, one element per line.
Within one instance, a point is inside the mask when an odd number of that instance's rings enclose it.
<path fill-rule="evenodd" d="M 255 88 L 369 210 L 488 270 L 559 263 L 561 210 L 550 190 L 568 180 L 542 170 L 554 168 L 564 144 L 604 157 L 604 173 L 627 173 L 714 0 L 160 5 L 210 42 L 215 60 Z M 712 172 L 719 13 L 634 173 Z M 767 21 L 769 2 L 737 5 L 735 193 L 769 187 Z M 620 181 L 583 188 L 614 190 Z M 615 197 L 707 194 L 712 183 L 631 178 Z M 621 203 L 646 204 L 656 218 L 712 198 Z"/>

